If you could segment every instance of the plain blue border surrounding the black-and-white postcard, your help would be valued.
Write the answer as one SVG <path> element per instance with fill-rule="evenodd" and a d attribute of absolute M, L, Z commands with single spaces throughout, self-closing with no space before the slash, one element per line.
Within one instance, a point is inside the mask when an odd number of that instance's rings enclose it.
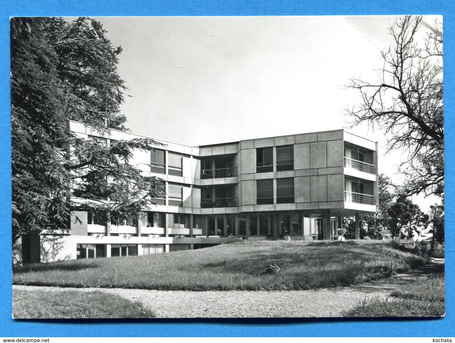
<path fill-rule="evenodd" d="M 0 336 L 3 337 L 450 337 L 455 336 L 453 277 L 454 6 L 428 1 L 252 1 L 252 0 L 90 0 L 5 1 L 0 4 Z M 161 321 L 17 321 L 11 319 L 10 182 L 10 16 L 175 16 L 175 15 L 404 15 L 444 16 L 446 315 L 425 320 L 161 320 Z M 449 132 L 449 134 L 447 134 Z"/>

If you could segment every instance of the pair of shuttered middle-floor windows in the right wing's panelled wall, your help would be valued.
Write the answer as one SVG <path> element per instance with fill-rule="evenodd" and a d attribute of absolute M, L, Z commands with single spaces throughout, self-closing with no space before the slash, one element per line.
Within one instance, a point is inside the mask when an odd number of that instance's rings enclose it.
<path fill-rule="evenodd" d="M 273 204 L 273 180 L 256 180 L 256 204 Z M 294 178 L 284 177 L 276 179 L 277 204 L 294 202 Z"/>

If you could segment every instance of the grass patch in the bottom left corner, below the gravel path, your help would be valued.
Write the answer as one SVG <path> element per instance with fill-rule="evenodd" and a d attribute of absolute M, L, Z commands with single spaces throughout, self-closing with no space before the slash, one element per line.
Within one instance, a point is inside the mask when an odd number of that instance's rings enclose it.
<path fill-rule="evenodd" d="M 14 318 L 154 318 L 141 303 L 80 291 L 13 290 Z"/>

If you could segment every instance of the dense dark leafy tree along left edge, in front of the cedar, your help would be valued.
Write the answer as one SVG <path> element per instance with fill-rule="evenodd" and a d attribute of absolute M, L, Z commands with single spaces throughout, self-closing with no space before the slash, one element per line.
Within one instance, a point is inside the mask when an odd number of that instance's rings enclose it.
<path fill-rule="evenodd" d="M 11 196 L 12 242 L 61 221 L 68 214 L 69 173 L 57 146 L 68 140 L 66 96 L 58 78 L 58 57 L 45 39 L 45 21 L 12 18 Z"/>

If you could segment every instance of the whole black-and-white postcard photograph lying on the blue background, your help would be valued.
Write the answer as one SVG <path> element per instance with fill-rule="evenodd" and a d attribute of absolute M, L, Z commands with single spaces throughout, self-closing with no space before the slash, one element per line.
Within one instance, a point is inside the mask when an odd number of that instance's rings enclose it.
<path fill-rule="evenodd" d="M 12 318 L 443 317 L 442 37 L 11 17 Z"/>

